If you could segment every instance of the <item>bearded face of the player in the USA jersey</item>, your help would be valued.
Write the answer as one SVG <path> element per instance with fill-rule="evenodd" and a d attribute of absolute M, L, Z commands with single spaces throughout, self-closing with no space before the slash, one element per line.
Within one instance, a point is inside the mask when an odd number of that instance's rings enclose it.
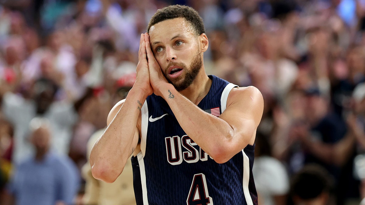
<path fill-rule="evenodd" d="M 203 65 L 197 36 L 184 18 L 157 23 L 150 28 L 151 49 L 166 79 L 178 90 L 188 88 Z"/>

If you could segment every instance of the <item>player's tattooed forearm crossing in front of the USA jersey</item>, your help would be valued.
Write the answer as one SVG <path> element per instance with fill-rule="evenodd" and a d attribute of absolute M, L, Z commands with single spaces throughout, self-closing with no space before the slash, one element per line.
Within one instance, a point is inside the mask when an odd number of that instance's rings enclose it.
<path fill-rule="evenodd" d="M 235 132 L 226 121 L 204 112 L 178 93 L 172 85 L 161 93 L 186 134 L 216 162 L 226 162 L 242 150 L 233 148 L 233 145 L 241 144 L 243 138 L 238 135 L 242 133 Z"/>

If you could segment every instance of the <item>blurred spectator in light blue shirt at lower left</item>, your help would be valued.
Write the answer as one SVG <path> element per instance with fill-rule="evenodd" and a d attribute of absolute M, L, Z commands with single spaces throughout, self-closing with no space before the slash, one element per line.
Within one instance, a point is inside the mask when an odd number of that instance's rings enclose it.
<path fill-rule="evenodd" d="M 35 154 L 15 167 L 4 204 L 71 205 L 80 183 L 76 166 L 51 149 L 47 119 L 34 118 L 29 126 Z"/>

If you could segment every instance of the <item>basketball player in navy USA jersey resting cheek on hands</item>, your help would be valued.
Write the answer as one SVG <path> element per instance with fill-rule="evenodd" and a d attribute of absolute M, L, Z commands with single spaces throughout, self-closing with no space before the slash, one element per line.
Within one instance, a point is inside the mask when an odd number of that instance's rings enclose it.
<path fill-rule="evenodd" d="M 207 76 L 208 38 L 194 9 L 160 9 L 147 32 L 136 82 L 92 148 L 93 176 L 113 182 L 132 154 L 137 204 L 257 204 L 260 91 Z"/>

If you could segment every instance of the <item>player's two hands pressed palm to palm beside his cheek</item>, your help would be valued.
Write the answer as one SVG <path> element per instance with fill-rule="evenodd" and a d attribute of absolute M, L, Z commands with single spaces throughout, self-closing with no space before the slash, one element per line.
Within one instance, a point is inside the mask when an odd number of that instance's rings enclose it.
<path fill-rule="evenodd" d="M 141 89 L 147 95 L 152 93 L 162 96 L 161 88 L 168 84 L 160 65 L 156 61 L 150 44 L 148 33 L 141 34 L 138 51 L 137 78 L 134 86 Z"/>

